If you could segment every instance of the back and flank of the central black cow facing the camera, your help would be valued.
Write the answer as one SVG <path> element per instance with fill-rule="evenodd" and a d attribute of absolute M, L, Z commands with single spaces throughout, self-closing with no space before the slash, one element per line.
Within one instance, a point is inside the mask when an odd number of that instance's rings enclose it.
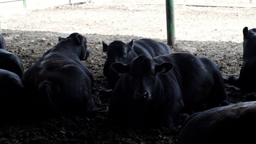
<path fill-rule="evenodd" d="M 202 104 L 210 104 L 208 108 L 216 107 L 222 102 L 225 105 L 228 97 L 218 66 L 209 58 L 194 56 L 188 52 L 176 52 L 152 58 L 156 63 L 170 62 L 174 64 L 168 75 L 176 76 L 176 83 L 180 84 L 184 112 L 204 110 Z M 161 79 L 170 78 L 161 75 Z"/>

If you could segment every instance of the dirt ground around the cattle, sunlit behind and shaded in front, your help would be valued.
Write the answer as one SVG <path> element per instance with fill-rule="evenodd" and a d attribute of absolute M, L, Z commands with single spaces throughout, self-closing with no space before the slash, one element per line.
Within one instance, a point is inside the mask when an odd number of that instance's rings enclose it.
<path fill-rule="evenodd" d="M 113 0 L 115 1 L 115 0 Z M 202 0 L 205 4 L 220 2 Z M 92 71 L 96 90 L 106 108 L 87 117 L 55 117 L 42 121 L 1 123 L 1 144 L 175 144 L 181 126 L 158 129 L 124 129 L 108 126 L 111 89 L 103 75 L 106 54 L 102 40 L 130 42 L 132 38 L 152 38 L 167 43 L 164 1 L 86 3 L 60 5 L 46 9 L 0 10 L 2 35 L 7 50 L 19 56 L 25 71 L 44 52 L 52 48 L 58 36 L 73 32 L 86 36 L 90 57 L 84 64 Z M 187 0 L 188 2 L 188 0 Z M 221 1 L 225 4 L 224 0 Z M 188 51 L 212 59 L 225 77 L 238 76 L 242 64 L 242 29 L 254 28 L 254 4 L 246 7 L 207 7 L 182 5 L 174 1 L 176 44 L 174 52 Z M 181 4 L 181 5 L 178 5 Z M 203 3 L 201 3 L 203 4 Z M 17 11 L 18 10 L 18 11 Z M 232 103 L 242 102 L 246 93 L 226 85 Z"/>

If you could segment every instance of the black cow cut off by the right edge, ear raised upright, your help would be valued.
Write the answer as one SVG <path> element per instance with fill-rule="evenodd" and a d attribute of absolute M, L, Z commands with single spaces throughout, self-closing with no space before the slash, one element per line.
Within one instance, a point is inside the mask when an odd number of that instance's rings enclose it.
<path fill-rule="evenodd" d="M 239 77 L 224 78 L 224 82 L 247 92 L 256 92 L 256 28 L 244 27 L 243 64 Z"/>

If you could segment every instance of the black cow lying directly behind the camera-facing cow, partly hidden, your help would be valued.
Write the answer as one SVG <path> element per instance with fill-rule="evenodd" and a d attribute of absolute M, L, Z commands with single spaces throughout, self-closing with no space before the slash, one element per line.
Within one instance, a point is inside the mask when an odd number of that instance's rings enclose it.
<path fill-rule="evenodd" d="M 124 43 L 120 40 L 114 40 L 109 45 L 102 41 L 103 52 L 107 53 L 107 59 L 104 64 L 103 74 L 108 83 L 114 88 L 121 74 L 118 74 L 111 68 L 114 62 L 122 62 L 128 64 L 140 54 L 144 54 L 151 58 L 172 52 L 172 49 L 163 42 L 157 42 L 149 38 L 140 40 L 131 40 Z"/>

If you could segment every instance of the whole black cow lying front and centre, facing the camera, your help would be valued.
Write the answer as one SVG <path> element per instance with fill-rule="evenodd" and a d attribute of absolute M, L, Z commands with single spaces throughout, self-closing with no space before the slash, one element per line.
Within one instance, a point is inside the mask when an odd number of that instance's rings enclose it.
<path fill-rule="evenodd" d="M 140 55 L 112 68 L 123 75 L 110 101 L 111 124 L 171 127 L 193 110 L 229 104 L 218 66 L 205 57 L 187 52 Z"/>

